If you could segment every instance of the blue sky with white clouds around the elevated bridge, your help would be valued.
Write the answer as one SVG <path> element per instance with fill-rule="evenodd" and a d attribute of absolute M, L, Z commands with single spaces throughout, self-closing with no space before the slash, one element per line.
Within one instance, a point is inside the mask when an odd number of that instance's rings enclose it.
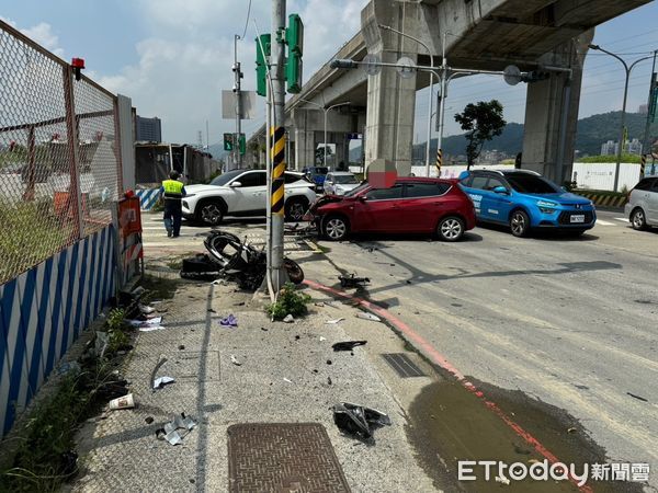
<path fill-rule="evenodd" d="M 288 0 L 287 13 L 304 21 L 304 80 L 307 80 L 360 27 L 367 0 Z M 235 35 L 242 62 L 243 90 L 253 90 L 254 37 L 270 31 L 271 1 L 252 0 L 21 0 L 0 1 L 0 19 L 23 31 L 65 60 L 84 58 L 86 73 L 125 94 L 141 116 L 162 119 L 162 138 L 209 144 L 232 121 L 222 119 L 222 90 L 231 89 Z M 247 15 L 249 11 L 249 21 Z M 597 27 L 594 44 L 634 61 L 658 49 L 658 3 L 651 2 Z M 651 61 L 632 72 L 627 111 L 646 103 Z M 585 65 L 579 116 L 620 110 L 624 70 L 614 58 L 591 51 Z M 460 134 L 452 115 L 469 102 L 498 99 L 508 122 L 523 123 L 525 87 L 507 85 L 496 76 L 453 81 L 446 135 Z M 424 141 L 429 91 L 417 93 L 415 136 Z M 249 136 L 262 125 L 264 110 L 243 122 Z M 435 136 L 435 133 L 432 133 Z M 635 136 L 631 136 L 635 137 Z"/>

